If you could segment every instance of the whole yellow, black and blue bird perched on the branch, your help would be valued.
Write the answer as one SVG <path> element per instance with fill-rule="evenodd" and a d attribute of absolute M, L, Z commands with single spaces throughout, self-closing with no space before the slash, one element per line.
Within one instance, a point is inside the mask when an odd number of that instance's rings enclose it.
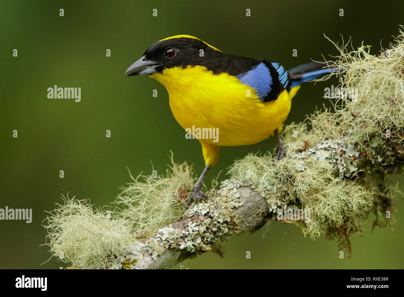
<path fill-rule="evenodd" d="M 285 70 L 276 62 L 225 54 L 194 36 L 176 35 L 151 44 L 125 74 L 160 82 L 175 119 L 193 136 L 197 128 L 217 131 L 216 139 L 210 133 L 195 137 L 202 145 L 205 167 L 184 204 L 188 209 L 193 202 L 206 202 L 201 186 L 218 161 L 220 146 L 251 145 L 275 135 L 275 159 L 282 160 L 280 131 L 291 99 L 301 84 L 332 71 L 318 62 Z"/>

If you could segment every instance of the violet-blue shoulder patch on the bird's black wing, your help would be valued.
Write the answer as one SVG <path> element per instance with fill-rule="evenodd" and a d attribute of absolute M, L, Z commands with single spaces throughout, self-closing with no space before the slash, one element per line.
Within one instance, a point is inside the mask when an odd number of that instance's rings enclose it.
<path fill-rule="evenodd" d="M 282 69 L 284 70 L 283 67 Z M 261 100 L 263 100 L 272 90 L 272 76 L 267 65 L 264 63 L 259 63 L 252 70 L 239 74 L 236 76 L 236 78 L 238 78 L 243 84 L 248 84 L 253 88 L 256 88 L 259 99 Z M 288 75 L 286 73 L 286 80 L 287 78 Z"/>

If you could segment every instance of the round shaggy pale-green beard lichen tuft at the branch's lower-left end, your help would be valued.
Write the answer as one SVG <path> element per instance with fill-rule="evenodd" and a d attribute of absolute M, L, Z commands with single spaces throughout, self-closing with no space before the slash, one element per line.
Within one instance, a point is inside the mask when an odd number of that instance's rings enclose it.
<path fill-rule="evenodd" d="M 107 268 L 110 261 L 123 257 L 133 239 L 133 222 L 108 209 L 93 210 L 87 200 L 63 196 L 63 201 L 44 226 L 54 257 L 74 268 Z"/>

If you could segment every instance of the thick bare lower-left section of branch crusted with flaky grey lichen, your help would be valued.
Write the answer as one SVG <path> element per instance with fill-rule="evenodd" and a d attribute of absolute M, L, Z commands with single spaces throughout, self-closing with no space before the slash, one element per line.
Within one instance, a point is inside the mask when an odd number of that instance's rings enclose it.
<path fill-rule="evenodd" d="M 282 197 L 284 190 L 279 188 L 273 196 Z M 210 202 L 194 206 L 156 236 L 133 242 L 129 256 L 137 259 L 135 268 L 170 268 L 210 251 L 212 245 L 231 235 L 254 232 L 273 217 L 267 200 L 258 192 L 227 181 Z"/>

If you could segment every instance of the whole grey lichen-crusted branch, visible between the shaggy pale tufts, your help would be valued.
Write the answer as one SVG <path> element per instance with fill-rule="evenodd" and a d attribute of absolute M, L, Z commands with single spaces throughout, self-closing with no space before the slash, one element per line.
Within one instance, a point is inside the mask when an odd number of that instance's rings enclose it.
<path fill-rule="evenodd" d="M 376 171 L 398 173 L 404 163 L 402 150 L 397 150 L 391 143 L 387 144 L 382 141 L 375 142 L 375 145 L 375 150 L 381 154 L 375 158 L 367 158 L 365 152 L 358 151 L 354 146 L 346 145 L 335 139 L 326 139 L 313 149 L 298 152 L 294 158 L 302 160 L 301 172 L 311 171 L 307 174 L 312 174 L 316 169 L 305 167 L 304 164 L 309 164 L 313 159 L 314 162 L 318 162 L 317 156 L 323 160 L 336 160 L 335 163 L 331 162 L 335 166 L 333 170 L 337 175 L 335 179 L 340 179 L 338 168 L 341 166 L 345 166 L 349 172 L 347 175 L 355 176 L 356 179 L 361 178 L 357 175 L 361 171 L 360 168 L 372 167 Z M 258 159 L 258 157 L 256 158 Z M 251 172 L 249 173 L 251 174 Z M 343 181 L 343 179 L 340 180 Z M 358 180 L 356 182 L 359 183 Z M 353 190 L 352 187 L 347 187 L 347 184 L 343 185 L 345 190 Z M 128 257 L 137 259 L 135 268 L 169 268 L 184 259 L 210 251 L 212 245 L 227 240 L 231 235 L 252 233 L 267 222 L 277 221 L 278 214 L 283 214 L 285 207 L 291 209 L 295 215 L 302 203 L 291 195 L 292 192 L 296 194 L 296 190 L 299 191 L 299 189 L 291 189 L 291 186 L 293 183 L 289 182 L 272 183 L 271 186 L 266 186 L 266 191 L 262 195 L 260 191 L 257 192 L 257 186 L 254 183 L 226 180 L 222 183 L 217 195 L 208 203 L 202 202 L 195 205 L 175 223 L 158 230 L 154 236 L 139 239 L 130 244 Z M 307 186 L 310 187 L 310 185 Z M 335 190 L 331 182 L 328 186 L 331 187 L 330 190 Z M 351 195 L 347 197 L 352 198 L 352 195 L 356 195 L 358 209 L 354 215 L 358 215 L 366 208 L 369 210 L 372 203 L 366 199 L 364 189 L 359 187 L 355 190 L 359 190 L 359 192 L 350 193 Z M 352 206 L 352 200 L 346 203 Z M 342 209 L 340 211 L 343 213 Z M 311 219 L 318 220 L 318 218 L 309 218 L 309 221 Z M 286 219 L 282 218 L 282 221 L 286 221 Z M 307 217 L 296 220 L 292 217 L 292 221 L 301 223 L 303 229 L 310 224 L 310 222 L 306 222 Z"/>

